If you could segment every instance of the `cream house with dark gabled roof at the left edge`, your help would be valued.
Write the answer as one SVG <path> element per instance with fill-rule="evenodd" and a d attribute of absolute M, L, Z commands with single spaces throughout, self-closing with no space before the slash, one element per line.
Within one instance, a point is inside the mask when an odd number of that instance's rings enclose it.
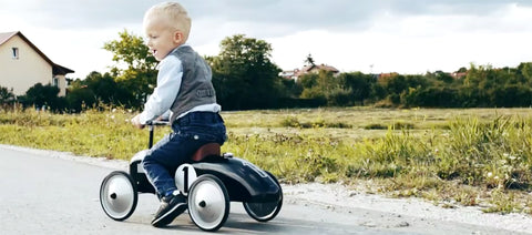
<path fill-rule="evenodd" d="M 23 95 L 37 83 L 59 88 L 59 96 L 66 94 L 68 73 L 74 71 L 53 63 L 20 31 L 0 33 L 0 86 Z"/>

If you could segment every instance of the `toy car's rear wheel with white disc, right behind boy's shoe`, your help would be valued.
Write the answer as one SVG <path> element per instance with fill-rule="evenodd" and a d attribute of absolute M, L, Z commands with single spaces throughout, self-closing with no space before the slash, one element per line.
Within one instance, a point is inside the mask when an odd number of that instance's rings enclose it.
<path fill-rule="evenodd" d="M 188 215 L 203 231 L 217 231 L 229 215 L 229 196 L 224 183 L 214 175 L 202 175 L 188 192 Z"/>

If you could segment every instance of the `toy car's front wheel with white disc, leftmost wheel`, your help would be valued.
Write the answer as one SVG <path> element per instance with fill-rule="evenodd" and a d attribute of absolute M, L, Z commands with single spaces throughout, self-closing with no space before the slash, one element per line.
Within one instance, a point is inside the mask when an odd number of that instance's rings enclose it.
<path fill-rule="evenodd" d="M 109 217 L 115 221 L 126 219 L 135 211 L 136 202 L 136 188 L 127 173 L 114 171 L 103 178 L 100 204 Z"/>

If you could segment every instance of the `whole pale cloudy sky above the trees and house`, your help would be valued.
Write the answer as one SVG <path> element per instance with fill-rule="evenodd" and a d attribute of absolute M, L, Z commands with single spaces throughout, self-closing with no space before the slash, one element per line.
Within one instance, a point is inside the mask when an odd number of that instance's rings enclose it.
<path fill-rule="evenodd" d="M 155 0 L 0 0 L 0 32 L 21 31 L 54 63 L 84 79 L 114 65 L 105 42 L 144 35 Z M 532 0 L 182 0 L 191 44 L 217 55 L 235 34 L 272 44 L 282 70 L 308 54 L 340 72 L 453 72 L 532 62 Z"/>

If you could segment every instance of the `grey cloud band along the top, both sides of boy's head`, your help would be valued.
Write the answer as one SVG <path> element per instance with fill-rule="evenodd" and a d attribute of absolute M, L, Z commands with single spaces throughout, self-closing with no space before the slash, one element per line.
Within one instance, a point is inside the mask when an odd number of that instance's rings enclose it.
<path fill-rule="evenodd" d="M 0 0 L 0 13 L 21 16 L 45 28 L 98 29 L 123 27 L 142 21 L 157 0 Z M 382 14 L 464 14 L 484 16 L 501 6 L 529 1 L 501 0 L 182 0 L 193 20 L 215 19 L 218 23 L 273 25 L 289 31 L 327 29 L 364 30 Z M 216 25 L 213 25 L 216 27 Z"/>

